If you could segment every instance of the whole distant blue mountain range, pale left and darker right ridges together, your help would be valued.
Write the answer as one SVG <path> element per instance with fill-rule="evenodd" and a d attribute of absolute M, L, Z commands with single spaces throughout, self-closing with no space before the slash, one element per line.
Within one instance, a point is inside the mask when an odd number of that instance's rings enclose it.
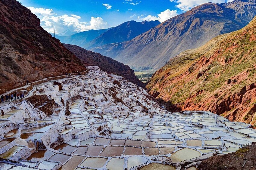
<path fill-rule="evenodd" d="M 131 40 L 158 24 L 160 24 L 159 21 L 128 21 L 109 29 L 89 30 L 72 36 L 55 37 L 62 43 L 78 45 L 82 48 L 94 50 L 93 48 L 101 45 Z"/>

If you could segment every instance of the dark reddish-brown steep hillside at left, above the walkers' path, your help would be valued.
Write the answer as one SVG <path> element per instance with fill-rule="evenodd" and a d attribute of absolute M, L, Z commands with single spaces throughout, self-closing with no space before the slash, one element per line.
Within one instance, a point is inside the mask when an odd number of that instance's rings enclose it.
<path fill-rule="evenodd" d="M 0 93 L 45 77 L 85 70 L 81 61 L 15 0 L 0 0 Z"/>

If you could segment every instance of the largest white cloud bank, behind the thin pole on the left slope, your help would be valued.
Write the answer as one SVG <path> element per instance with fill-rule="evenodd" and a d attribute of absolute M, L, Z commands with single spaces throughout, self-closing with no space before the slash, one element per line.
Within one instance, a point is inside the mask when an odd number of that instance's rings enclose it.
<path fill-rule="evenodd" d="M 89 23 L 82 22 L 82 18 L 78 15 L 57 15 L 51 9 L 28 7 L 32 13 L 36 14 L 41 20 L 41 26 L 48 32 L 61 33 L 69 29 L 72 32 L 87 31 L 90 29 L 105 29 L 109 24 L 101 17 L 91 17 Z"/>

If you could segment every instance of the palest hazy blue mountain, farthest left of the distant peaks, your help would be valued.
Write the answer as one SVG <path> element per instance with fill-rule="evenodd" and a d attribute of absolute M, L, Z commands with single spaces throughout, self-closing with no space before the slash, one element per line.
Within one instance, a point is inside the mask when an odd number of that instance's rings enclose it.
<path fill-rule="evenodd" d="M 91 29 L 89 31 L 79 32 L 71 36 L 55 35 L 55 38 L 59 39 L 62 43 L 65 43 L 65 44 L 73 44 L 73 45 L 78 45 L 80 47 L 86 47 L 86 45 L 90 41 L 100 36 L 102 33 L 106 32 L 107 30 L 108 29 L 99 29 L 99 30 Z"/>

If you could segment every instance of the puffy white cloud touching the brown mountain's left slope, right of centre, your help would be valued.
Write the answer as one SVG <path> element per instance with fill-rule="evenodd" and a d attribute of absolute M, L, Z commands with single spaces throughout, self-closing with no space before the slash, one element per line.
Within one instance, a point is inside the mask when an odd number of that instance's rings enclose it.
<path fill-rule="evenodd" d="M 155 20 L 159 20 L 161 23 L 172 18 L 175 17 L 176 15 L 178 15 L 177 10 L 170 10 L 167 9 L 165 11 L 162 11 L 160 14 L 158 14 L 158 17 L 156 16 L 152 16 L 152 15 L 148 15 L 148 16 L 144 16 L 141 15 L 138 17 L 138 20 L 147 20 L 147 21 L 155 21 Z"/>

